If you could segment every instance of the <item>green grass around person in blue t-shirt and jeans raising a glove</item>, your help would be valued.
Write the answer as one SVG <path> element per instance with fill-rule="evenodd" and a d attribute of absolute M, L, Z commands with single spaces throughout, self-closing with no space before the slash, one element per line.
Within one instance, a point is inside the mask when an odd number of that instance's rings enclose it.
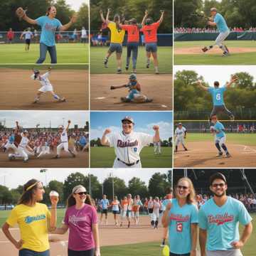
<path fill-rule="evenodd" d="M 39 58 L 39 44 L 32 43 L 29 52 L 25 52 L 23 43 L 1 44 L 0 63 L 36 63 Z M 58 43 L 57 61 L 60 63 L 89 63 L 89 45 L 82 43 Z M 50 56 L 47 53 L 46 61 L 50 63 Z"/>

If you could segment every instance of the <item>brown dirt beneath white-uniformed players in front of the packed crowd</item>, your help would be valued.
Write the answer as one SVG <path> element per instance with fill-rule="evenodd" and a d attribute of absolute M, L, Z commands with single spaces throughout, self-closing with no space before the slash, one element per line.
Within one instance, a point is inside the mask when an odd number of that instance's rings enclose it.
<path fill-rule="evenodd" d="M 0 167 L 8 168 L 26 168 L 26 167 L 38 167 L 38 168 L 87 168 L 89 167 L 89 153 L 78 152 L 75 158 L 70 154 L 61 154 L 60 159 L 53 159 L 55 154 L 48 154 L 41 156 L 40 159 L 36 159 L 35 156 L 31 156 L 28 162 L 23 163 L 22 159 L 15 159 L 10 161 L 8 154 L 12 153 L 0 153 Z"/>

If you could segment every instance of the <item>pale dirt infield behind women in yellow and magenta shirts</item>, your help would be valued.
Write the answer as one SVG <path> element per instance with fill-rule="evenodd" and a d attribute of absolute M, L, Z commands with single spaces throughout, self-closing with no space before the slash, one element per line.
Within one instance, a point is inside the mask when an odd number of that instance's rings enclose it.
<path fill-rule="evenodd" d="M 137 242 L 151 242 L 161 240 L 163 229 L 151 229 L 149 226 L 149 217 L 142 216 L 140 218 L 140 224 L 135 226 L 131 225 L 131 228 L 127 228 L 127 225 L 122 228 L 114 226 L 112 221 L 112 214 L 109 215 L 109 225 L 100 225 L 100 245 L 127 245 Z M 19 230 L 18 228 L 11 229 L 11 234 L 18 240 Z M 50 255 L 53 256 L 66 256 L 68 245 L 68 233 L 65 235 L 50 235 Z M 14 245 L 9 242 L 4 233 L 0 231 L 0 246 L 1 253 L 3 255 L 16 256 L 17 250 Z M 160 252 L 159 247 L 159 252 Z"/>

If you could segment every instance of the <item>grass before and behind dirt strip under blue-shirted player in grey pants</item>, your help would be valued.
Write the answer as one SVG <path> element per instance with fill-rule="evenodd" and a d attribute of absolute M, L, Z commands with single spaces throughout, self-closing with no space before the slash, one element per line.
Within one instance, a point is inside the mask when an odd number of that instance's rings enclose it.
<path fill-rule="evenodd" d="M 190 48 L 209 46 L 213 41 L 186 41 L 175 42 L 175 48 Z M 225 41 L 228 47 L 255 48 L 255 41 Z M 215 46 L 216 47 L 216 46 Z M 221 51 L 218 54 L 180 54 L 174 55 L 175 65 L 255 65 L 256 52 L 254 53 L 231 53 L 222 57 Z"/>

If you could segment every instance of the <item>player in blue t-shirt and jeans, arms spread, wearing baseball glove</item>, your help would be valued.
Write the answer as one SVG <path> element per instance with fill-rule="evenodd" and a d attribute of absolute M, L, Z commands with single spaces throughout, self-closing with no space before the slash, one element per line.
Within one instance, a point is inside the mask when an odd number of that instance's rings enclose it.
<path fill-rule="evenodd" d="M 46 11 L 46 16 L 41 16 L 36 19 L 29 18 L 21 7 L 16 10 L 16 14 L 19 18 L 32 24 L 41 26 L 41 38 L 40 38 L 40 57 L 37 60 L 37 64 L 43 63 L 46 60 L 47 51 L 50 54 L 50 63 L 57 63 L 57 53 L 55 47 L 55 31 L 66 31 L 77 20 L 75 15 L 70 18 L 70 22 L 62 25 L 58 18 L 55 18 L 57 10 L 55 6 L 50 6 Z"/>

